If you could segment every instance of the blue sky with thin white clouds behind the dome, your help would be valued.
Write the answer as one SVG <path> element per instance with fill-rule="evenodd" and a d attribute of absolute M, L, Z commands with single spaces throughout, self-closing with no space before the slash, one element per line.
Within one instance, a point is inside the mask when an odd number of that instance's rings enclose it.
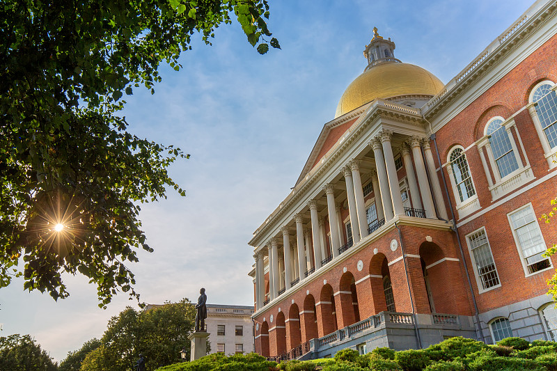
<path fill-rule="evenodd" d="M 161 68 L 155 95 L 134 90 L 124 115 L 130 131 L 191 154 L 171 166 L 187 190 L 144 205 L 143 229 L 154 253 L 139 251 L 136 290 L 146 303 L 195 300 L 251 305 L 247 245 L 293 187 L 324 123 L 366 61 L 372 28 L 396 44 L 395 56 L 445 84 L 531 5 L 529 1 L 269 0 L 269 29 L 281 43 L 260 56 L 237 24 L 199 38 L 175 72 Z M 29 333 L 56 360 L 100 338 L 127 305 L 107 310 L 81 276 L 66 276 L 70 297 L 24 292 L 22 280 L 0 291 L 0 336 Z"/>

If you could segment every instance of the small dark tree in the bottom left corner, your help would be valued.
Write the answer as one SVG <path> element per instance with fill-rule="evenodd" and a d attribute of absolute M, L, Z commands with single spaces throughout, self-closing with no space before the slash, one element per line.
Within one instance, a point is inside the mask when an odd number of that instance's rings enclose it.
<path fill-rule="evenodd" d="M 0 370 L 56 371 L 58 364 L 29 335 L 0 337 Z"/>

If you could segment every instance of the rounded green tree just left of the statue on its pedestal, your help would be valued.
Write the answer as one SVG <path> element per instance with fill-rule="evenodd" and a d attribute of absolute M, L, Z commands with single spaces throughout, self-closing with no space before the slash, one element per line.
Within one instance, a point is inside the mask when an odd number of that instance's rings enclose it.
<path fill-rule="evenodd" d="M 127 307 L 110 319 L 100 346 L 84 356 L 79 370 L 132 370 L 139 354 L 145 356 L 148 370 L 155 370 L 179 362 L 182 349 L 186 349 L 189 359 L 187 336 L 194 329 L 195 315 L 188 299 L 142 312 Z"/>

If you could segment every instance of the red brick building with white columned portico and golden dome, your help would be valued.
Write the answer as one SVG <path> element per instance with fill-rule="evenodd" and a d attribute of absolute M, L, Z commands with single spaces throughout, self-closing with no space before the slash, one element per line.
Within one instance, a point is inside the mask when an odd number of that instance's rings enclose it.
<path fill-rule="evenodd" d="M 444 85 L 374 29 L 291 194 L 253 234 L 256 352 L 557 340 L 557 2 Z"/>

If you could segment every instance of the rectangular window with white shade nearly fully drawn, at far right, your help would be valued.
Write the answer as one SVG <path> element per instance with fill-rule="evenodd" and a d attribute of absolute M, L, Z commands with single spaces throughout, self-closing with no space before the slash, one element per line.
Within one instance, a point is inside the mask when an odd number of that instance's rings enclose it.
<path fill-rule="evenodd" d="M 551 267 L 549 259 L 542 256 L 546 247 L 532 205 L 509 214 L 509 221 L 528 274 Z"/>

